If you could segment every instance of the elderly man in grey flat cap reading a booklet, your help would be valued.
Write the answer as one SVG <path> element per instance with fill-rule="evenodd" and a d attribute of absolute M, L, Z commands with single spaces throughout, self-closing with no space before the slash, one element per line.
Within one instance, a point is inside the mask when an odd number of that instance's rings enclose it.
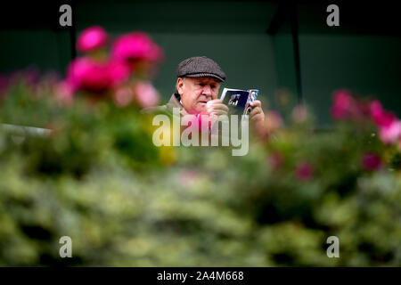
<path fill-rule="evenodd" d="M 195 56 L 178 64 L 176 70 L 176 93 L 164 106 L 146 109 L 147 111 L 179 108 L 181 115 L 205 114 L 219 116 L 227 114 L 228 107 L 217 99 L 220 83 L 225 81 L 225 72 L 218 64 L 206 56 Z M 265 114 L 261 102 L 250 103 L 250 121 L 263 124 Z"/>

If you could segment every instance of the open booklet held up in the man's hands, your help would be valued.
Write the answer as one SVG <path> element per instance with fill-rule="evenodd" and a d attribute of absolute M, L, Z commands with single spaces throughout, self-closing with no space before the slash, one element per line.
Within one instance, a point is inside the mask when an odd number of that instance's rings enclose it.
<path fill-rule="evenodd" d="M 257 100 L 258 89 L 240 90 L 223 89 L 220 99 L 228 106 L 230 115 L 249 115 L 252 107 L 250 102 Z"/>

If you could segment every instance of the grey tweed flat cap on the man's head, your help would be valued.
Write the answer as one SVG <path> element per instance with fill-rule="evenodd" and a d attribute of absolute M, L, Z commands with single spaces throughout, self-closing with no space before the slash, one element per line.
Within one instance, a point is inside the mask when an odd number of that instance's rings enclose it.
<path fill-rule="evenodd" d="M 225 72 L 206 56 L 194 56 L 178 64 L 176 77 L 215 77 L 224 82 Z"/>

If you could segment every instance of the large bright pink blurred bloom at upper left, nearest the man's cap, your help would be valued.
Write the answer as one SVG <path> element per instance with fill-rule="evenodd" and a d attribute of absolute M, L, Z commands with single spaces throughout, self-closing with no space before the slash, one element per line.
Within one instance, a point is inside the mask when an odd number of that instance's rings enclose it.
<path fill-rule="evenodd" d="M 119 37 L 111 49 L 111 57 L 121 61 L 159 61 L 163 53 L 147 34 L 132 32 Z"/>

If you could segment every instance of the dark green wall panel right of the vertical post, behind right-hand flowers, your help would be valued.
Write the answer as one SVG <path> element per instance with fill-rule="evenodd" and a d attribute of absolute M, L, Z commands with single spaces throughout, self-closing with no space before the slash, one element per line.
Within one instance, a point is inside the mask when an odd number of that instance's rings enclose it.
<path fill-rule="evenodd" d="M 362 96 L 380 98 L 401 115 L 401 40 L 360 35 L 299 36 L 305 101 L 327 125 L 331 92 L 349 88 Z"/>

